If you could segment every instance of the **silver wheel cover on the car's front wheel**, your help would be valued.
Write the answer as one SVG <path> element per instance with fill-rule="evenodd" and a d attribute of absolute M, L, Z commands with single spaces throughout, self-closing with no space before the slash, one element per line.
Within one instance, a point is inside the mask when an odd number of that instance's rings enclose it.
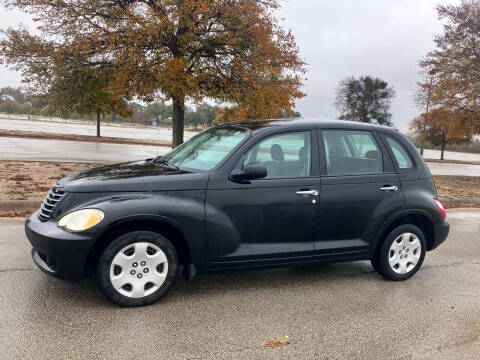
<path fill-rule="evenodd" d="M 110 264 L 113 287 L 130 298 L 153 294 L 165 282 L 167 274 L 167 256 L 157 245 L 147 242 L 125 246 Z"/>

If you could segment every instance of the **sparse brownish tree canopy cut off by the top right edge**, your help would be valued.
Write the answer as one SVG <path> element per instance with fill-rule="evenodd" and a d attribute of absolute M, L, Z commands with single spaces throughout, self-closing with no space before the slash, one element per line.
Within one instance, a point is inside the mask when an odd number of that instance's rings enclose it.
<path fill-rule="evenodd" d="M 457 120 L 480 134 L 480 1 L 463 0 L 456 6 L 438 6 L 437 11 L 445 20 L 443 34 L 435 38 L 436 49 L 420 62 L 427 80 L 419 82 L 420 92 L 431 87 L 433 108 L 460 113 Z"/>

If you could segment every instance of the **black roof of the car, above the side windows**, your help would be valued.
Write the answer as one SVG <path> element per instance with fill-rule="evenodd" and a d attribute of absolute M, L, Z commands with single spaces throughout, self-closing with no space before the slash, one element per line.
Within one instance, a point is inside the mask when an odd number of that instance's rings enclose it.
<path fill-rule="evenodd" d="M 295 118 L 295 119 L 268 119 L 268 120 L 247 120 L 242 122 L 232 122 L 223 124 L 223 126 L 239 126 L 247 128 L 254 132 L 259 132 L 271 128 L 301 128 L 303 126 L 317 127 L 317 128 L 334 128 L 334 129 L 349 129 L 349 130 L 386 130 L 393 131 L 388 126 L 361 123 L 356 121 L 335 120 L 335 119 L 312 119 L 312 118 Z M 222 125 L 221 125 L 222 126 Z"/>

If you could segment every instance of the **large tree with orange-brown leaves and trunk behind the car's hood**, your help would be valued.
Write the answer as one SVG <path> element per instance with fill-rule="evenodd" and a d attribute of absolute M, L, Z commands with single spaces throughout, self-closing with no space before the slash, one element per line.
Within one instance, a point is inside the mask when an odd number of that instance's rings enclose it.
<path fill-rule="evenodd" d="M 144 100 L 173 103 L 173 146 L 183 142 L 185 101 L 212 98 L 241 103 L 268 88 L 266 104 L 290 110 L 305 63 L 291 32 L 274 17 L 278 0 L 50 1 L 3 0 L 35 14 L 51 58 L 81 55 L 90 66 L 110 64 L 115 87 Z M 13 39 L 32 38 L 9 29 L 0 43 L 4 59 Z M 278 89 L 279 91 L 271 91 Z"/>

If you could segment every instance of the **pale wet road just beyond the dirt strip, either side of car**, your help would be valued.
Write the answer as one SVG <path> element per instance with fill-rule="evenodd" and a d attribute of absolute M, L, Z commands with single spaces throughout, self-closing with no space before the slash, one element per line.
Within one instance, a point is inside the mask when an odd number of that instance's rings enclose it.
<path fill-rule="evenodd" d="M 0 137 L 0 160 L 120 162 L 163 155 L 168 147 Z M 480 165 L 428 163 L 433 175 L 480 176 Z"/>

